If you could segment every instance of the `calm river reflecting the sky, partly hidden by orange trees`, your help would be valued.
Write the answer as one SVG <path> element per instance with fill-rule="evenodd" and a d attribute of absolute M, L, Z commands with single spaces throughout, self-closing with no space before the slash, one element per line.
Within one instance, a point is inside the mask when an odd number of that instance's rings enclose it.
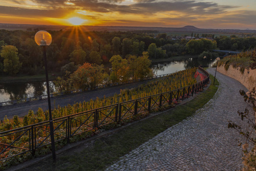
<path fill-rule="evenodd" d="M 198 67 L 199 65 L 210 67 L 214 62 L 214 59 L 189 58 L 152 63 L 152 69 L 155 75 L 171 74 L 191 67 Z M 52 93 L 54 91 L 54 84 L 50 82 L 50 92 Z M 41 95 L 47 95 L 46 82 L 0 84 L 0 102 L 26 99 L 28 97 Z"/>

